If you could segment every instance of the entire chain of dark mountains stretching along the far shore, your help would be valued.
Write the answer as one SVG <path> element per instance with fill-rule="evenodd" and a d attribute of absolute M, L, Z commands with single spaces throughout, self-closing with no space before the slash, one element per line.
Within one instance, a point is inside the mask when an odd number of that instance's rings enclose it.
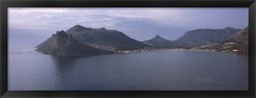
<path fill-rule="evenodd" d="M 199 46 L 209 43 L 238 43 L 232 49 L 248 46 L 248 27 L 245 29 L 197 29 L 185 32 L 176 40 L 167 40 L 159 35 L 140 42 L 117 30 L 86 28 L 80 25 L 66 32 L 57 31 L 45 42 L 36 46 L 38 52 L 52 55 L 87 55 L 122 53 L 122 51 L 155 50 Z"/>

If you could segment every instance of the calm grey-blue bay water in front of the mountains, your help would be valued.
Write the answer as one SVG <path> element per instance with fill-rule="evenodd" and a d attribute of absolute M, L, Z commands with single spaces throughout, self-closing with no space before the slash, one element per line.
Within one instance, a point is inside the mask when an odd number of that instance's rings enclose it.
<path fill-rule="evenodd" d="M 247 91 L 249 56 L 164 50 L 55 56 L 36 48 L 8 53 L 9 91 Z"/>

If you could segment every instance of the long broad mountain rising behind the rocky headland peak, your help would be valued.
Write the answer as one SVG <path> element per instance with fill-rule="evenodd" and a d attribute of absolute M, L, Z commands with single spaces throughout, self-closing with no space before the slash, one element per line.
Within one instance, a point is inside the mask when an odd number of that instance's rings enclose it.
<path fill-rule="evenodd" d="M 126 36 L 121 31 L 107 30 L 106 28 L 92 29 L 76 25 L 66 32 L 84 44 L 97 47 L 114 47 L 114 50 L 138 50 L 148 46 Z"/>

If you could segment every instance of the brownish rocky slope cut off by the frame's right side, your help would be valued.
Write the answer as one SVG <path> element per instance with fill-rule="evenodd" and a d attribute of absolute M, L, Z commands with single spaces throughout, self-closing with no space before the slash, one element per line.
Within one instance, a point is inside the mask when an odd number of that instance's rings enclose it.
<path fill-rule="evenodd" d="M 237 32 L 235 35 L 232 35 L 224 42 L 244 42 L 244 40 L 249 38 L 249 26 L 245 27 L 243 30 Z"/>

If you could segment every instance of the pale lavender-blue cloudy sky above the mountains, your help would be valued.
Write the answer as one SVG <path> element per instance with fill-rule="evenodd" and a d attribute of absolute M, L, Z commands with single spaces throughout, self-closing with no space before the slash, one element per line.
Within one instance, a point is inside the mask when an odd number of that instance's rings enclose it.
<path fill-rule="evenodd" d="M 56 31 L 81 25 L 122 31 L 139 40 L 174 40 L 195 29 L 243 29 L 248 8 L 8 8 L 11 42 L 40 44 Z"/>

